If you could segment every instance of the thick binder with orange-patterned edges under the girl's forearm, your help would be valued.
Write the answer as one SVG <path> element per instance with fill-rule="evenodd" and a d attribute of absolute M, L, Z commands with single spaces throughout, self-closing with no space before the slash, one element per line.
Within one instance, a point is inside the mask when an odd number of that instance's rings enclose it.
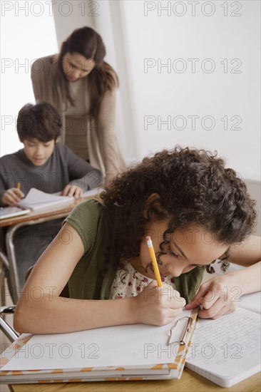
<path fill-rule="evenodd" d="M 183 311 L 165 326 L 134 324 L 69 334 L 23 334 L 1 354 L 1 382 L 180 378 L 196 316 L 196 310 Z"/>

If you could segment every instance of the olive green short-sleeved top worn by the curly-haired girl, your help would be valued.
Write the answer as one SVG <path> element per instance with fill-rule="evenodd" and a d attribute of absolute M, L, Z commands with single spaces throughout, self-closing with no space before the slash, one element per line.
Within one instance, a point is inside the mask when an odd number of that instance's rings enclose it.
<path fill-rule="evenodd" d="M 81 237 L 84 254 L 69 279 L 69 294 L 76 299 L 109 299 L 116 275 L 113 251 L 109 245 L 123 231 L 123 209 L 109 210 L 98 200 L 78 204 L 66 218 Z M 104 274 L 104 269 L 106 273 Z M 175 277 L 175 289 L 188 303 L 193 299 L 203 278 L 205 268 Z"/>

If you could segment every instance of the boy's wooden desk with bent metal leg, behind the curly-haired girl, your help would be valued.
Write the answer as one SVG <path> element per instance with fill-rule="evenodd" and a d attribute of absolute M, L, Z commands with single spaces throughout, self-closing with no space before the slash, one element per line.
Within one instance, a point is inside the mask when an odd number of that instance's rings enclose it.
<path fill-rule="evenodd" d="M 19 275 L 17 272 L 16 265 L 16 254 L 14 251 L 14 234 L 19 227 L 26 225 L 36 225 L 38 223 L 47 222 L 49 220 L 56 220 L 59 218 L 67 217 L 68 214 L 73 210 L 79 202 L 83 200 L 89 199 L 93 197 L 93 195 L 81 197 L 80 199 L 74 200 L 70 204 L 66 205 L 66 207 L 61 208 L 60 210 L 57 207 L 53 207 L 44 210 L 44 212 L 29 212 L 26 215 L 19 215 L 18 217 L 6 218 L 0 221 L 0 227 L 9 227 L 6 232 L 6 254 L 0 250 L 0 258 L 6 268 L 9 270 L 10 274 L 10 294 L 14 301 L 14 304 L 19 299 Z"/>

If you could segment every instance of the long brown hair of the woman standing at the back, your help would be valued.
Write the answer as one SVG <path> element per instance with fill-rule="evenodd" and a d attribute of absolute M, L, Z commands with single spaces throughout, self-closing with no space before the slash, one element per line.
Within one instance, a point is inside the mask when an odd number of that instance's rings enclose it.
<path fill-rule="evenodd" d="M 113 68 L 103 61 L 106 55 L 101 36 L 91 27 L 81 27 L 71 33 L 70 36 L 61 45 L 61 51 L 58 56 L 58 84 L 61 88 L 62 96 L 66 101 L 73 105 L 73 98 L 69 91 L 69 83 L 63 73 L 63 56 L 66 53 L 79 53 L 85 58 L 93 59 L 96 66 L 88 74 L 88 92 L 90 96 L 89 115 L 96 118 L 106 91 L 112 91 L 118 86 L 118 76 Z"/>

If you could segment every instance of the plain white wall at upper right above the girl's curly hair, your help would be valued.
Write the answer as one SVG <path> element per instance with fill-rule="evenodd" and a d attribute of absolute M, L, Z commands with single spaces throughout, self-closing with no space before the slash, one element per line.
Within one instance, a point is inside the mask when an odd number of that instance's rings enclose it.
<path fill-rule="evenodd" d="M 194 4 L 195 16 L 191 3 L 199 3 Z M 118 4 L 128 41 L 141 154 L 172 148 L 177 143 L 218 150 L 227 165 L 244 177 L 260 180 L 260 2 Z M 227 16 L 222 4 L 227 4 Z M 168 8 L 160 10 L 163 6 Z M 193 58 L 199 60 L 194 71 L 189 60 Z M 227 73 L 221 63 L 224 59 Z M 160 62 L 168 63 L 169 68 L 160 68 Z M 179 73 L 185 66 L 186 70 Z M 208 72 L 214 66 L 215 70 Z M 199 116 L 195 129 L 194 115 Z M 170 120 L 161 125 L 161 130 L 160 119 Z M 232 129 L 232 125 L 238 129 Z"/>

